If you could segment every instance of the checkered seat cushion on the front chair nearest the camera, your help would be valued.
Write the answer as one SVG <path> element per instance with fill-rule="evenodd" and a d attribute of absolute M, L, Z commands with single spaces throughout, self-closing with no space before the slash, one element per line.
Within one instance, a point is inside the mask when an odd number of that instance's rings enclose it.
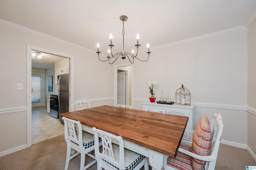
<path fill-rule="evenodd" d="M 116 162 L 119 162 L 119 145 L 117 144 L 112 144 L 113 147 L 113 152 L 114 152 L 114 157 Z M 138 154 L 136 152 L 132 152 L 131 150 L 128 150 L 124 148 L 124 167 L 125 170 L 133 170 L 142 160 L 146 158 L 145 156 Z M 107 162 L 106 160 L 104 160 Z M 108 164 L 111 164 L 108 162 Z M 114 166 L 113 164 L 111 164 Z M 115 168 L 118 168 L 114 166 Z M 119 168 L 118 168 L 119 169 Z"/>

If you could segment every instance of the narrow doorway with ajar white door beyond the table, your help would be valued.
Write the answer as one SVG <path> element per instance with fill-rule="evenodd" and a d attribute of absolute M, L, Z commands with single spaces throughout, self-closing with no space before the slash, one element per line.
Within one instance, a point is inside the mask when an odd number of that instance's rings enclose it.
<path fill-rule="evenodd" d="M 114 66 L 114 106 L 121 103 L 132 106 L 132 64 Z"/>

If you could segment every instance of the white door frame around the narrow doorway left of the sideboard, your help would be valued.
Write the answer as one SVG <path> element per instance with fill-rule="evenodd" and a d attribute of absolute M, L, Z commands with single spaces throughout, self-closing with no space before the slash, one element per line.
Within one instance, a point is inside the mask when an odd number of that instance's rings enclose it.
<path fill-rule="evenodd" d="M 123 64 L 123 65 L 115 65 L 114 66 L 114 106 L 117 106 L 117 70 L 123 70 L 120 67 L 126 67 L 126 66 L 131 66 L 132 67 L 132 105 L 133 105 L 133 65 L 130 63 L 128 64 Z M 124 70 L 127 71 L 127 70 Z M 130 74 L 130 73 L 129 73 Z M 128 83 L 127 81 L 128 76 L 126 76 L 126 85 Z M 128 91 L 128 87 L 126 88 L 126 91 Z M 127 96 L 126 96 L 127 97 Z M 127 99 L 127 98 L 126 98 Z"/>

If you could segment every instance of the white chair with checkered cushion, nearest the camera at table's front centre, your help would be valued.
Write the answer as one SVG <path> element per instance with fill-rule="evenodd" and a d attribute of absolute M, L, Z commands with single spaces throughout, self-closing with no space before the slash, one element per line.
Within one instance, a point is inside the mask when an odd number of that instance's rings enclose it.
<path fill-rule="evenodd" d="M 148 170 L 148 158 L 136 152 L 132 152 L 124 148 L 122 136 L 105 132 L 103 130 L 92 128 L 94 138 L 98 138 L 98 134 L 102 138 L 102 152 L 99 152 L 98 140 L 95 140 L 95 156 L 97 160 L 97 169 L 102 170 L 140 170 L 144 166 L 144 170 Z M 118 144 L 112 143 L 117 141 Z"/>

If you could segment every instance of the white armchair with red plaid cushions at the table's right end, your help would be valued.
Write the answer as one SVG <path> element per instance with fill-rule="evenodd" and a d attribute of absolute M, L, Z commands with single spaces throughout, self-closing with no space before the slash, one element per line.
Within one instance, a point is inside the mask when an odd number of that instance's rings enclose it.
<path fill-rule="evenodd" d="M 166 170 L 214 170 L 220 146 L 223 123 L 220 113 L 214 113 L 212 123 L 206 115 L 200 117 L 194 132 L 192 146 L 181 143 L 176 158 L 168 157 Z"/>

